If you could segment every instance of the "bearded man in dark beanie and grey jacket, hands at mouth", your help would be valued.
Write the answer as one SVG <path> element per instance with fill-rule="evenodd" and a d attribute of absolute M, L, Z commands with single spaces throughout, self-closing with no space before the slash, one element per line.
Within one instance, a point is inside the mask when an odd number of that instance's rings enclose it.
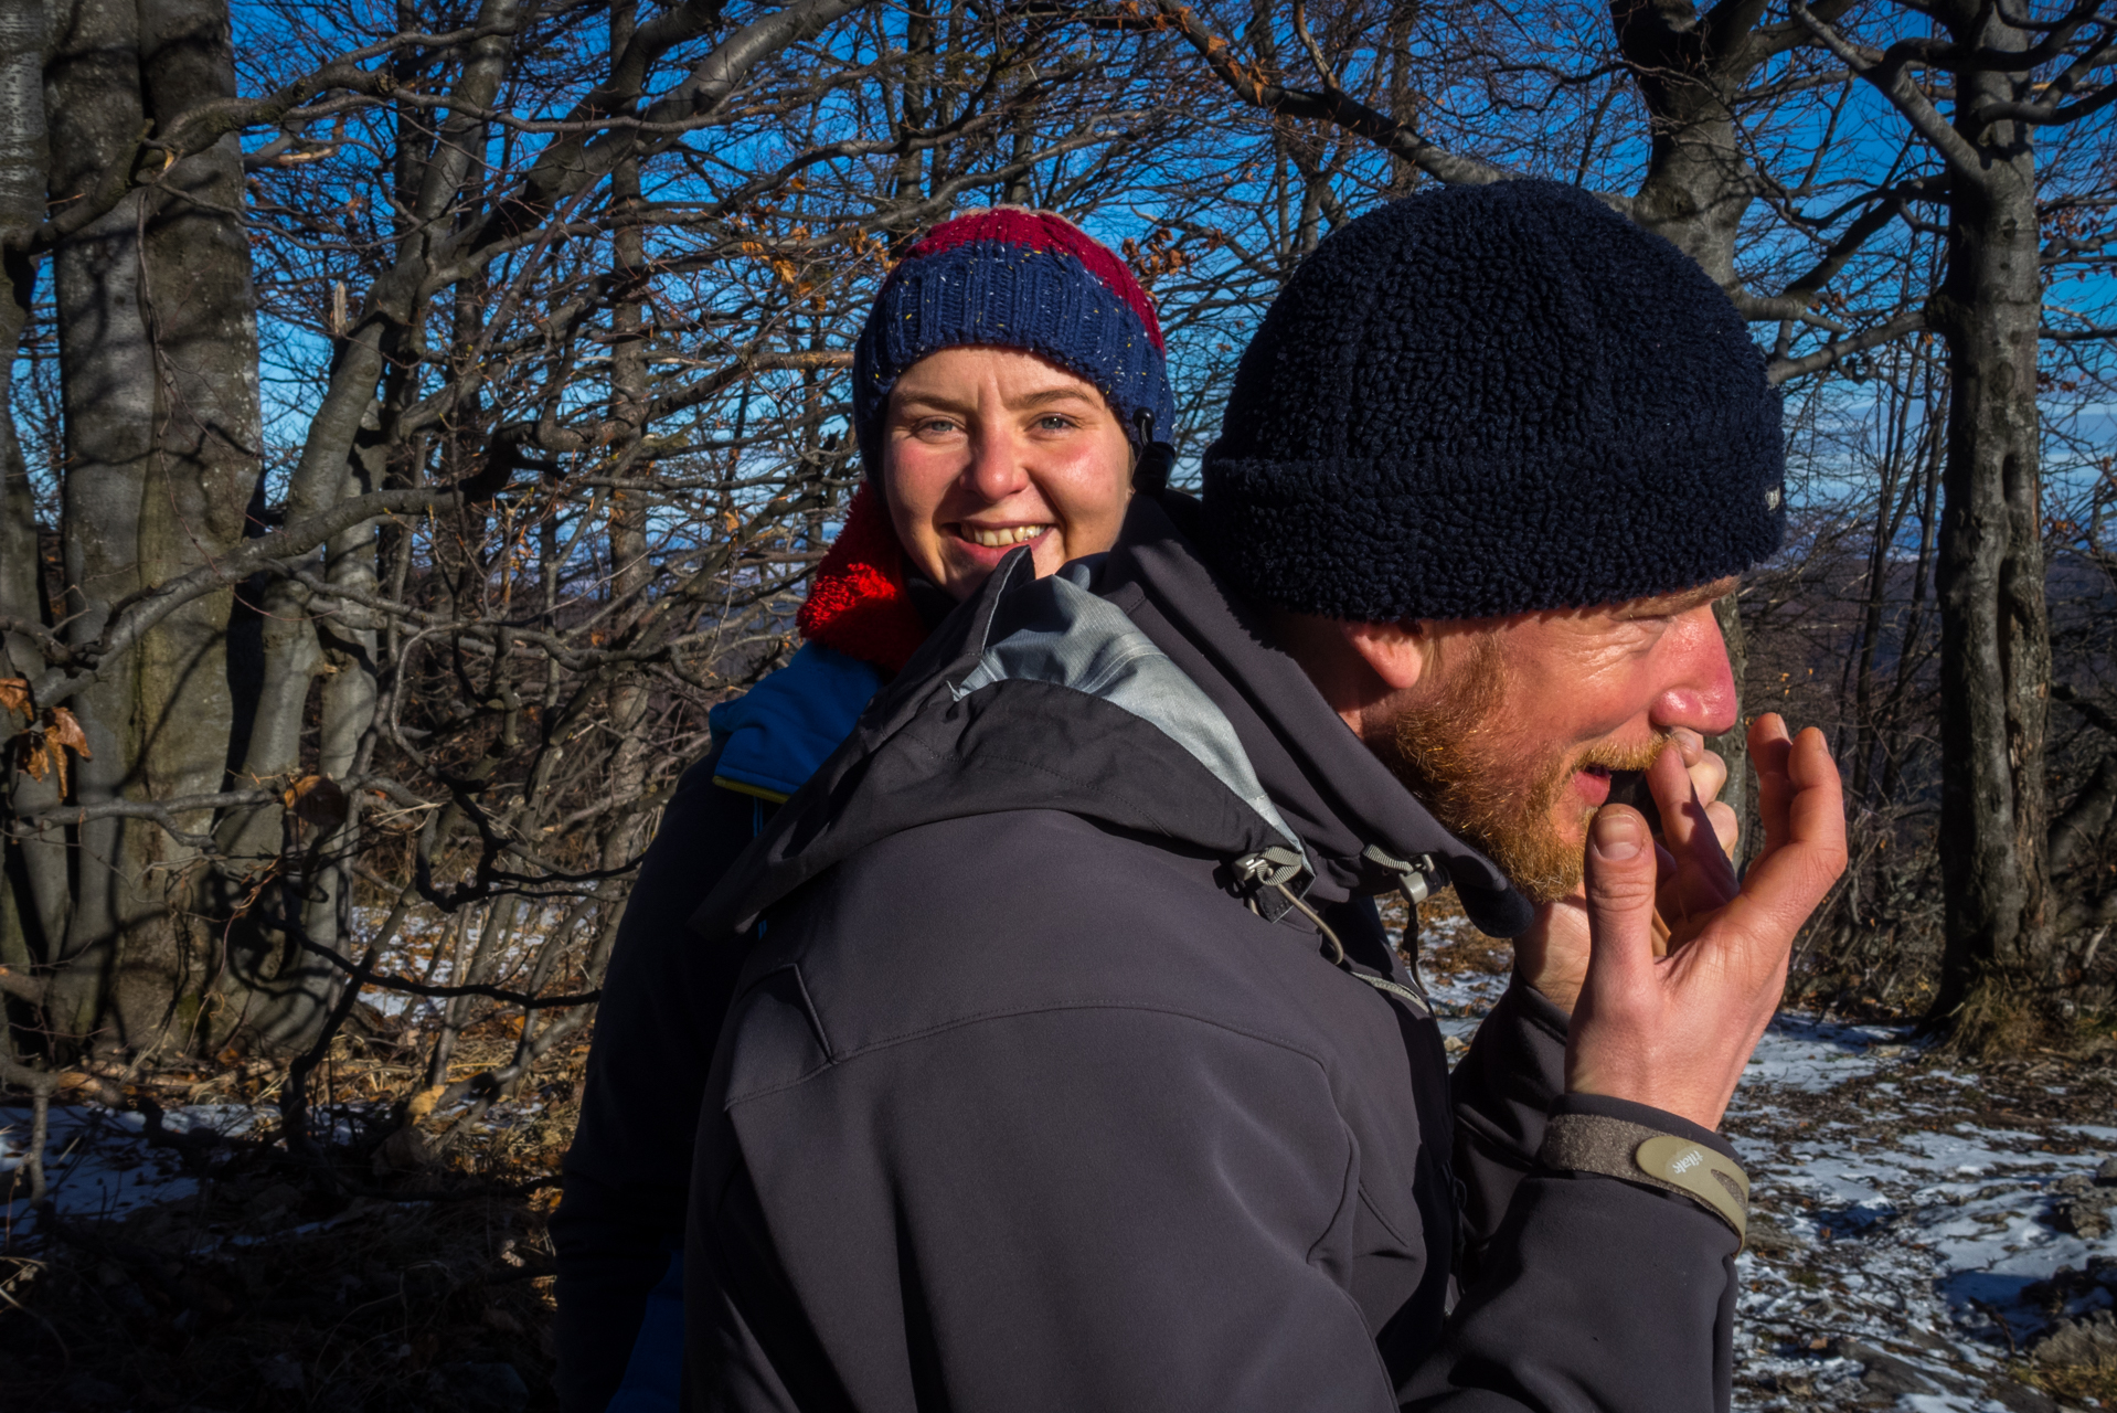
<path fill-rule="evenodd" d="M 1592 199 L 1334 233 L 1202 504 L 995 572 L 701 911 L 692 1405 L 1725 1407 L 1713 1125 L 1844 860 L 1816 733 L 1751 729 L 1740 888 L 1685 769 L 1780 470 L 1740 318 Z M 1452 1085 L 1372 902 L 1442 879 L 1518 936 Z"/>

